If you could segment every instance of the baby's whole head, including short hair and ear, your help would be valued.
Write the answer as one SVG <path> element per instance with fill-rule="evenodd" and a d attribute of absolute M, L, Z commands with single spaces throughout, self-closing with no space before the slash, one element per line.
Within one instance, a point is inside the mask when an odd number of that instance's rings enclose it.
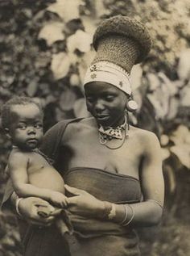
<path fill-rule="evenodd" d="M 29 97 L 10 99 L 2 107 L 2 128 L 14 146 L 35 149 L 43 138 L 43 111 Z"/>

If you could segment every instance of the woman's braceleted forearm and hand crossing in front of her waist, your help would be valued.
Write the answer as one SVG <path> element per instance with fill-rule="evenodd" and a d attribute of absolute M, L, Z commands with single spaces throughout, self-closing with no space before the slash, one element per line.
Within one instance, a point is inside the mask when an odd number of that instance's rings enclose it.
<path fill-rule="evenodd" d="M 162 216 L 163 209 L 154 200 L 137 204 L 111 204 L 75 187 L 65 185 L 65 189 L 73 195 L 68 197 L 68 211 L 79 216 L 134 226 L 156 225 Z"/>

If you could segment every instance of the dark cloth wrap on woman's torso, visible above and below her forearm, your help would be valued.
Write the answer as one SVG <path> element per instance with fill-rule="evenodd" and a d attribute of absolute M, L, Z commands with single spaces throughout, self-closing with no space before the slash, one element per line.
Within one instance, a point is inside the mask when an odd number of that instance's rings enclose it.
<path fill-rule="evenodd" d="M 102 201 L 114 204 L 137 203 L 142 197 L 136 178 L 96 168 L 76 167 L 64 176 L 65 183 L 88 191 Z M 138 256 L 138 237 L 130 226 L 113 221 L 89 219 L 70 214 L 75 245 L 70 244 L 72 256 Z M 72 250 L 75 250 L 74 252 Z"/>

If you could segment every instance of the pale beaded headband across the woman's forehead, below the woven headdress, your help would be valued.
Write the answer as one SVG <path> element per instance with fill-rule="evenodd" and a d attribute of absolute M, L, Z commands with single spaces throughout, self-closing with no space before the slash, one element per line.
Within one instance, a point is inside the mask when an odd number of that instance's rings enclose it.
<path fill-rule="evenodd" d="M 85 74 L 84 86 L 89 82 L 107 82 L 126 94 L 131 94 L 130 75 L 125 69 L 109 61 L 99 61 L 89 66 Z"/>

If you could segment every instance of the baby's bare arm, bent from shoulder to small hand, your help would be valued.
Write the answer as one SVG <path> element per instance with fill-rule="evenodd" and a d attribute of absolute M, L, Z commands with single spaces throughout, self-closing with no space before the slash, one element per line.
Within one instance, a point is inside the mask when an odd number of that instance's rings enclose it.
<path fill-rule="evenodd" d="M 67 198 L 64 194 L 46 188 L 35 187 L 29 183 L 27 175 L 29 162 L 30 158 L 27 154 L 25 155 L 21 152 L 10 154 L 8 166 L 16 194 L 20 197 L 40 197 L 52 202 L 52 204 L 58 207 L 65 207 L 67 205 Z"/>

